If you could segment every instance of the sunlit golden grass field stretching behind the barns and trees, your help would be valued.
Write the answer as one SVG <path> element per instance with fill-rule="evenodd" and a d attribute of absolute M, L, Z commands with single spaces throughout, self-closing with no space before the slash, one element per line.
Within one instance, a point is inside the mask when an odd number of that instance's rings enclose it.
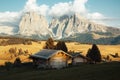
<path fill-rule="evenodd" d="M 45 41 L 32 42 L 32 45 L 8 45 L 8 46 L 0 46 L 0 65 L 3 65 L 7 61 L 13 62 L 15 58 L 11 59 L 9 54 L 10 48 L 17 48 L 22 50 L 28 50 L 29 54 L 34 54 L 40 51 L 45 44 Z M 56 44 L 56 42 L 55 42 Z M 90 44 L 79 44 L 77 42 L 66 42 L 68 50 L 75 51 L 75 52 L 82 52 L 83 55 L 86 55 L 89 48 L 92 47 Z M 120 55 L 120 45 L 98 45 L 100 49 L 101 55 L 108 55 L 108 54 L 115 54 L 118 53 Z M 29 61 L 27 58 L 28 56 L 21 55 L 19 56 L 23 62 Z"/>

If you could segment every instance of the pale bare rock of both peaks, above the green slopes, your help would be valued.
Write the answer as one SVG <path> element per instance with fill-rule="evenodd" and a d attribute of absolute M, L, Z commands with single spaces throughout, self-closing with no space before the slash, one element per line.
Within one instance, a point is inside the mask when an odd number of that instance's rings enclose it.
<path fill-rule="evenodd" d="M 44 16 L 38 15 L 36 12 L 28 12 L 22 17 L 19 24 L 19 34 L 30 37 L 36 37 L 37 35 L 40 39 L 47 39 L 48 37 L 63 39 L 76 34 L 93 32 L 97 32 L 95 34 L 99 34 L 100 36 L 97 36 L 99 38 L 101 36 L 111 37 L 109 35 L 111 32 L 120 35 L 120 29 L 92 23 L 79 14 L 53 18 L 48 25 Z M 107 35 L 103 35 L 103 33 L 107 33 Z"/>

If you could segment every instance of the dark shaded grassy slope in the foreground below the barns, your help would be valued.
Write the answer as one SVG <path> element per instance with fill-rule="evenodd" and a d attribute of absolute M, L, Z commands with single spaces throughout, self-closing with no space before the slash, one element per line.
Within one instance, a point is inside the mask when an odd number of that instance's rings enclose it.
<path fill-rule="evenodd" d="M 37 70 L 29 67 L 1 70 L 1 80 L 118 80 L 120 63 L 81 64 L 61 70 Z"/>

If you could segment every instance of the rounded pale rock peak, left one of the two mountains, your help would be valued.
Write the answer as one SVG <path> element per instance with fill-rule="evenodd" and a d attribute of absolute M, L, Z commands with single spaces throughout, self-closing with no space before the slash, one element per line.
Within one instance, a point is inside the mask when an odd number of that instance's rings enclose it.
<path fill-rule="evenodd" d="M 35 12 L 28 12 L 23 17 L 19 24 L 19 34 L 25 36 L 31 35 L 50 35 L 48 23 L 45 17 L 38 15 Z"/>

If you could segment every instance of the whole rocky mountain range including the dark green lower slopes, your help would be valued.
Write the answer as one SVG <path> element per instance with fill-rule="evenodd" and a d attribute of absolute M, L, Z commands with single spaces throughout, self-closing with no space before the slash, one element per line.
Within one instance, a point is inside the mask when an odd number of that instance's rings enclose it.
<path fill-rule="evenodd" d="M 93 23 L 80 14 L 64 15 L 47 19 L 36 12 L 25 13 L 19 23 L 17 35 L 35 39 L 54 39 L 78 41 L 82 43 L 119 43 L 120 29 Z M 106 41 L 107 40 L 107 41 Z"/>

